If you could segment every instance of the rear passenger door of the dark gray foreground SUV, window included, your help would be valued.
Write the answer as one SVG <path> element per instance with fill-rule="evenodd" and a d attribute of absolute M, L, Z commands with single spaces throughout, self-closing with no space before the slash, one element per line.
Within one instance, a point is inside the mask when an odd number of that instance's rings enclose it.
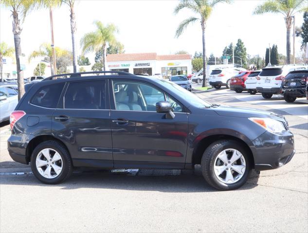
<path fill-rule="evenodd" d="M 74 166 L 113 167 L 106 80 L 70 82 L 53 116 L 53 134 Z"/>

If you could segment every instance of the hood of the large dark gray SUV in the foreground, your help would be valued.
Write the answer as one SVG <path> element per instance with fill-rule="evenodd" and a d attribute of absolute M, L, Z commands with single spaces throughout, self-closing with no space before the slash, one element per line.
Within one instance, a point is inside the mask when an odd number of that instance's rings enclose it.
<path fill-rule="evenodd" d="M 268 117 L 275 120 L 286 122 L 285 118 L 279 114 L 257 110 L 253 108 L 237 108 L 237 107 L 228 107 L 228 106 L 218 106 L 214 108 L 214 111 L 220 116 L 232 116 L 232 117 Z"/>

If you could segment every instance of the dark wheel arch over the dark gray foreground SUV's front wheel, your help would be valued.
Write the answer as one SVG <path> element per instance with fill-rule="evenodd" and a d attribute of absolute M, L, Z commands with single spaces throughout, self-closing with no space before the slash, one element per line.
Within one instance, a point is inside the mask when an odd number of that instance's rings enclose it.
<path fill-rule="evenodd" d="M 213 142 L 218 140 L 233 140 L 241 144 L 248 152 L 249 152 L 249 158 L 252 164 L 252 168 L 254 168 L 254 154 L 253 151 L 250 149 L 250 147 L 247 145 L 247 143 L 242 140 L 241 138 L 238 138 L 236 136 L 227 135 L 227 134 L 215 134 L 215 135 L 209 135 L 206 137 L 203 137 L 198 144 L 196 145 L 193 155 L 192 155 L 192 164 L 200 164 L 201 158 L 203 155 L 204 150 L 206 150 Z"/>

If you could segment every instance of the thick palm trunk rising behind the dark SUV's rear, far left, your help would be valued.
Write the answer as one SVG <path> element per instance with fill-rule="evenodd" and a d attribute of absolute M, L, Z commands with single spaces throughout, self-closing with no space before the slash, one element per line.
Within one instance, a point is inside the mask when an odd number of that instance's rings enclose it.
<path fill-rule="evenodd" d="M 18 100 L 25 94 L 23 71 L 20 70 L 20 33 L 22 31 L 20 27 L 20 20 L 18 19 L 18 12 L 13 11 L 13 34 L 14 34 L 14 45 L 15 45 L 15 55 L 16 55 L 16 71 L 17 71 L 17 85 L 18 85 Z"/>

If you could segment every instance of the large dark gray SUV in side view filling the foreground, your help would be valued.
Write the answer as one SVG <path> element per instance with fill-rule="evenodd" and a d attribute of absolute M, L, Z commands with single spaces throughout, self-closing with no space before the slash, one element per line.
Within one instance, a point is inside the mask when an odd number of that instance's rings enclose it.
<path fill-rule="evenodd" d="M 210 104 L 163 79 L 109 72 L 32 85 L 10 118 L 13 160 L 31 162 L 36 178 L 49 184 L 64 181 L 77 166 L 200 164 L 210 185 L 231 190 L 252 168 L 278 168 L 295 153 L 283 116 Z"/>

